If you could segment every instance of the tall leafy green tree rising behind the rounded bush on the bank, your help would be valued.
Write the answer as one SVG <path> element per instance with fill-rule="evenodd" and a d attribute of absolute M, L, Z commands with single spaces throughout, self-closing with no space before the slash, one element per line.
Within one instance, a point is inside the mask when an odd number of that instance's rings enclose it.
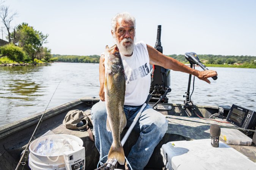
<path fill-rule="evenodd" d="M 47 42 L 48 34 L 44 35 L 37 31 L 33 26 L 22 23 L 17 26 L 15 31 L 15 44 L 22 47 L 32 61 L 40 53 L 42 45 Z M 11 39 L 14 39 L 14 32 L 11 33 Z"/>

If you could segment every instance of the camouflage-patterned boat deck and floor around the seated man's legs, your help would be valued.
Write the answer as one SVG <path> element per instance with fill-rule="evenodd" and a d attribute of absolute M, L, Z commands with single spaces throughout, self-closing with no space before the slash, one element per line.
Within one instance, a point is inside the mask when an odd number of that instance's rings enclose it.
<path fill-rule="evenodd" d="M 86 111 L 90 111 L 90 110 L 86 110 Z M 160 141 L 159 145 L 157 145 L 157 147 L 155 148 L 154 153 L 152 154 L 153 156 L 151 157 L 147 165 L 148 168 L 145 168 L 145 170 L 162 169 L 160 168 L 159 165 L 154 165 L 152 162 L 162 161 L 162 155 L 160 155 L 160 147 L 163 144 L 170 141 L 181 141 L 181 140 L 189 141 L 189 140 L 196 140 L 196 139 L 209 139 L 210 124 L 232 126 L 230 124 L 213 122 L 213 121 L 204 120 L 197 117 L 181 117 L 181 116 L 166 115 L 166 119 L 168 120 L 168 130 L 166 131 L 166 134 L 163 137 L 162 141 Z M 218 121 L 225 121 L 225 120 L 218 119 Z M 91 127 L 91 130 L 94 133 L 93 127 Z M 126 133 L 126 131 L 127 131 L 127 128 L 123 131 L 122 136 Z M 89 156 L 89 155 L 94 155 L 94 160 L 86 159 L 86 162 L 91 162 L 95 164 L 95 162 L 98 161 L 99 153 L 94 145 L 94 142 L 90 141 L 90 139 L 88 138 L 89 134 L 87 131 L 69 130 L 61 124 L 57 128 L 54 128 L 52 132 L 55 134 L 71 134 L 71 135 L 78 136 L 84 142 L 84 147 L 86 148 L 86 155 L 88 155 L 86 158 L 92 158 L 92 156 Z M 127 142 L 124 146 L 124 151 L 126 153 L 126 156 L 129 153 L 132 145 L 134 145 L 135 142 L 137 141 L 138 136 L 139 134 L 133 131 L 133 133 L 127 139 Z M 220 140 L 225 142 L 221 138 Z M 256 147 L 245 146 L 245 145 L 229 145 L 229 146 L 236 149 L 237 151 L 247 156 L 248 158 L 250 158 L 251 161 L 256 162 Z M 118 168 L 124 169 L 123 166 Z"/>

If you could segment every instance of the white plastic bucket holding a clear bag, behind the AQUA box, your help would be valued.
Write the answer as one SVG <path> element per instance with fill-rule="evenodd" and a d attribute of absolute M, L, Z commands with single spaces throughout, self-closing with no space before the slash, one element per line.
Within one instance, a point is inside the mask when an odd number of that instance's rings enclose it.
<path fill-rule="evenodd" d="M 31 142 L 29 146 L 30 154 L 28 158 L 28 165 L 32 170 L 65 170 L 65 162 L 63 155 L 54 155 L 54 156 L 47 156 L 41 155 L 33 151 L 35 146 L 40 141 L 44 141 L 45 139 L 51 139 L 54 137 L 58 138 L 69 138 L 72 139 L 80 146 L 83 146 L 82 139 L 78 138 L 77 136 L 69 135 L 69 134 L 53 134 L 48 136 L 43 136 L 35 141 Z"/>

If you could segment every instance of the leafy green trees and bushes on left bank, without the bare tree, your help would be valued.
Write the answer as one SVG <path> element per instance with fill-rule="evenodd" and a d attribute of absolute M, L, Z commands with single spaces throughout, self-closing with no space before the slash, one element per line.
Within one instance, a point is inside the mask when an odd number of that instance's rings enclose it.
<path fill-rule="evenodd" d="M 51 50 L 43 47 L 48 35 L 37 31 L 33 26 L 22 23 L 10 34 L 11 43 L 1 46 L 0 53 L 13 62 L 37 63 L 40 60 L 50 62 Z"/>

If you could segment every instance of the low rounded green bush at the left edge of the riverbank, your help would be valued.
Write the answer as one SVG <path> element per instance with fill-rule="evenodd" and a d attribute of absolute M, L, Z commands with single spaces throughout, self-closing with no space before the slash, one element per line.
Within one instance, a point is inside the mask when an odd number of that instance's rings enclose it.
<path fill-rule="evenodd" d="M 0 47 L 0 51 L 3 56 L 16 62 L 23 62 L 26 55 L 22 48 L 15 46 L 13 43 Z"/>

